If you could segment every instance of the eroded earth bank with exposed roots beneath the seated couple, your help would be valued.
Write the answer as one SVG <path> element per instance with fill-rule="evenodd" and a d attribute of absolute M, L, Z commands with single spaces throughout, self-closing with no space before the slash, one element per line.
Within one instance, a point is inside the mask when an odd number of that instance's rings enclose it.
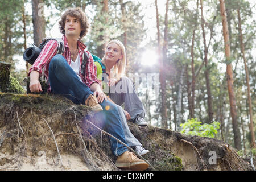
<path fill-rule="evenodd" d="M 0 92 L 0 101 L 0 170 L 119 170 L 88 107 L 47 94 Z M 150 150 L 147 170 L 252 170 L 221 140 L 128 124 Z"/>

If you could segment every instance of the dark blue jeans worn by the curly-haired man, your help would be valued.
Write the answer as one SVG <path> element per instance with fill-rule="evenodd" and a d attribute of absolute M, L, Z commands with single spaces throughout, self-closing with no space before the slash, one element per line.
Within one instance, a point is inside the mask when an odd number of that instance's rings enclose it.
<path fill-rule="evenodd" d="M 90 94 L 93 94 L 90 88 L 80 81 L 62 55 L 55 55 L 49 64 L 49 82 L 53 94 L 62 94 L 75 104 L 85 104 L 86 99 Z M 99 104 L 102 106 L 103 111 L 97 114 L 101 115 L 106 131 L 127 144 L 117 106 L 109 101 Z M 112 137 L 110 137 L 110 144 L 112 152 L 116 156 L 128 150 Z"/>

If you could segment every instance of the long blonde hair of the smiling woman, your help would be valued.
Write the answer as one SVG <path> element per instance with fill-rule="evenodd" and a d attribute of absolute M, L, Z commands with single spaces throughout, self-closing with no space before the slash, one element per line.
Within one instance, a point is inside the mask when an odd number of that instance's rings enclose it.
<path fill-rule="evenodd" d="M 119 59 L 117 63 L 115 63 L 113 69 L 115 73 L 115 79 L 119 81 L 123 74 L 125 73 L 125 65 L 126 65 L 126 52 L 125 52 L 125 46 L 123 46 L 123 43 L 120 40 L 110 40 L 108 44 L 106 44 L 106 48 L 108 48 L 109 44 L 117 44 L 121 48 L 121 54 L 123 55 L 122 59 Z M 105 56 L 102 58 L 102 62 L 106 65 Z"/>

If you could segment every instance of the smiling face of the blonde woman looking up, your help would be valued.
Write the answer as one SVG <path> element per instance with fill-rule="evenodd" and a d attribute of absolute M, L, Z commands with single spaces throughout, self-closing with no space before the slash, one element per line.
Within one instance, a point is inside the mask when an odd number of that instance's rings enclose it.
<path fill-rule="evenodd" d="M 117 44 L 111 43 L 108 45 L 105 51 L 106 63 L 107 61 L 116 63 L 119 59 L 122 59 L 122 57 L 121 48 Z"/>

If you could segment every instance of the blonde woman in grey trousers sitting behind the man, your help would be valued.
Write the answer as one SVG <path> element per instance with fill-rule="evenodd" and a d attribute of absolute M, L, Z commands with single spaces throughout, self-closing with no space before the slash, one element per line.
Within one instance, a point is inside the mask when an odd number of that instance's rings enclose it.
<path fill-rule="evenodd" d="M 94 64 L 97 65 L 97 78 L 101 81 L 102 88 L 105 91 L 110 90 L 107 92 L 110 101 L 118 105 L 127 143 L 138 154 L 144 155 L 149 151 L 145 150 L 131 134 L 126 122 L 127 119 L 134 121 L 139 126 L 147 126 L 147 122 L 143 119 L 145 116 L 144 106 L 135 91 L 133 81 L 123 76 L 126 65 L 125 54 L 125 46 L 119 40 L 112 40 L 106 46 L 102 61 L 94 61 Z M 124 109 L 121 107 L 122 104 L 125 105 Z"/>

